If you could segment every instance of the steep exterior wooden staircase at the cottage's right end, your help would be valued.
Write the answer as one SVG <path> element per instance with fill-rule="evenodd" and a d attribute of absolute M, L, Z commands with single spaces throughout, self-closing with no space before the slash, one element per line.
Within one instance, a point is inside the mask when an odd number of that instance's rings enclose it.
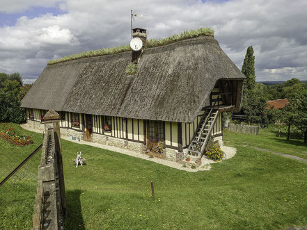
<path fill-rule="evenodd" d="M 188 154 L 192 156 L 202 157 L 205 151 L 205 147 L 212 133 L 215 122 L 217 122 L 217 117 L 219 115 L 219 110 L 212 108 L 207 108 L 203 114 L 200 124 L 198 125 L 197 131 L 194 134 L 193 140 L 189 145 Z"/>

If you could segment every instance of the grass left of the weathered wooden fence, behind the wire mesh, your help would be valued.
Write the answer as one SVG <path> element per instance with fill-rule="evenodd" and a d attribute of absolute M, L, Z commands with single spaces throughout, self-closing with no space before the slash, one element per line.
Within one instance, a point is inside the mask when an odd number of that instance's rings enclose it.
<path fill-rule="evenodd" d="M 17 147 L 0 138 L 0 181 L 42 144 L 41 134 L 24 131 L 17 124 L 12 125 L 19 133 L 33 135 L 34 143 Z M 36 195 L 40 155 L 39 151 L 0 187 L 0 229 L 30 229 L 32 227 L 31 216 Z"/>

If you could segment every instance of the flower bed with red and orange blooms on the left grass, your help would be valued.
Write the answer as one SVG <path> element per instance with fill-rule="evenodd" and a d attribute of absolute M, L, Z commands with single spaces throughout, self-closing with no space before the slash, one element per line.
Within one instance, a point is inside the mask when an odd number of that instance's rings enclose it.
<path fill-rule="evenodd" d="M 0 138 L 12 143 L 13 145 L 33 144 L 33 138 L 31 135 L 19 133 L 15 131 L 13 126 L 6 123 L 0 123 Z"/>

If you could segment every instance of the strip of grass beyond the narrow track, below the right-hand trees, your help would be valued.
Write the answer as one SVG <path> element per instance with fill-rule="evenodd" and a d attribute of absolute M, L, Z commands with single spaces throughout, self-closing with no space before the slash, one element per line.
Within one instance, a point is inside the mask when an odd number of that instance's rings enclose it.
<path fill-rule="evenodd" d="M 223 132 L 224 137 L 229 138 L 236 145 L 251 145 L 262 149 L 277 151 L 282 154 L 290 154 L 307 159 L 307 145 L 303 140 L 286 139 L 285 130 L 281 129 L 281 137 L 278 137 L 278 126 L 270 125 L 269 128 L 260 129 L 260 135 L 246 135 L 241 133 L 230 133 L 227 129 Z M 295 136 L 295 133 L 292 134 Z"/>

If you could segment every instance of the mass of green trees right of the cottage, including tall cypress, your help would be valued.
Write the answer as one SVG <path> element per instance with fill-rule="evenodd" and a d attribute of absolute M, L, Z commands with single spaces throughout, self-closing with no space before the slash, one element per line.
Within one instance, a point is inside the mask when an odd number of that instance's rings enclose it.
<path fill-rule="evenodd" d="M 255 56 L 253 47 L 248 47 L 242 73 L 246 76 L 242 95 L 242 108 L 246 122 L 253 124 L 271 124 L 281 122 L 288 126 L 288 140 L 290 126 L 293 125 L 304 135 L 307 144 L 307 83 L 299 79 L 291 79 L 276 85 L 255 83 Z M 276 99 L 288 99 L 285 108 L 267 109 L 266 102 Z"/>

